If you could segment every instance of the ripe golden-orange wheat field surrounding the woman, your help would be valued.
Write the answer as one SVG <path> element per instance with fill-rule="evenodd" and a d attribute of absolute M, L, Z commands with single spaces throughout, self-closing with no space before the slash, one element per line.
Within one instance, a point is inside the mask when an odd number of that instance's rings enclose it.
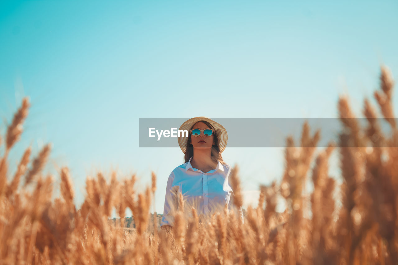
<path fill-rule="evenodd" d="M 320 132 L 310 135 L 307 123 L 302 126 L 300 143 L 287 138 L 283 176 L 259 187 L 258 206 L 246 209 L 243 223 L 235 212 L 224 209 L 204 224 L 195 208 L 184 212 L 180 200 L 172 230 L 160 229 L 156 212 L 150 213 L 156 190 L 153 172 L 151 185 L 142 192 L 135 189 L 136 175 L 123 181 L 115 173 L 109 181 L 102 173 L 87 178 L 81 207 L 74 204 L 68 168 L 60 169 L 59 176 L 42 173 L 51 144 L 35 157 L 27 147 L 15 174 L 10 175 L 8 154 L 21 137 L 30 107 L 24 98 L 4 137 L 0 136 L 4 149 L 0 263 L 398 264 L 398 131 L 392 119 L 393 86 L 390 70 L 381 66 L 380 88 L 373 95 L 381 115 L 365 99 L 362 113 L 368 123 L 364 128 L 351 119 L 355 116 L 348 98 L 339 97 L 344 129 L 339 147 L 330 144 L 316 152 Z M 379 116 L 389 123 L 390 134 L 382 133 L 375 119 Z M 332 152 L 339 154 L 341 185 L 328 174 Z M 235 166 L 230 177 L 236 207 L 243 201 L 239 176 Z M 55 187 L 59 177 L 60 187 Z M 314 186 L 310 196 L 303 195 L 307 179 Z M 55 189 L 61 196 L 52 199 Z M 333 197 L 335 191 L 341 195 L 339 202 Z M 278 198 L 287 206 L 282 213 L 275 210 Z M 127 208 L 135 220 L 132 229 L 125 229 Z M 120 222 L 111 221 L 113 210 Z M 310 219 L 304 217 L 306 211 L 312 212 Z M 155 222 L 153 216 L 157 216 Z"/>

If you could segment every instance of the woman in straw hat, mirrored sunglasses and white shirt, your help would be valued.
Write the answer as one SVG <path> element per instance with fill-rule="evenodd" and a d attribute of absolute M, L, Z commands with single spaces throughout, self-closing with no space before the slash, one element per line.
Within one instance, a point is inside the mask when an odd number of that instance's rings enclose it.
<path fill-rule="evenodd" d="M 175 168 L 167 181 L 160 226 L 168 230 L 174 225 L 178 192 L 183 194 L 187 207 L 184 212 L 194 206 L 201 219 L 216 210 L 222 212 L 225 204 L 228 210 L 233 207 L 233 192 L 228 185 L 231 166 L 221 156 L 228 140 L 225 128 L 208 117 L 195 117 L 185 121 L 179 130 L 187 130 L 188 137 L 178 137 L 185 163 Z M 242 208 L 239 214 L 243 222 Z"/>

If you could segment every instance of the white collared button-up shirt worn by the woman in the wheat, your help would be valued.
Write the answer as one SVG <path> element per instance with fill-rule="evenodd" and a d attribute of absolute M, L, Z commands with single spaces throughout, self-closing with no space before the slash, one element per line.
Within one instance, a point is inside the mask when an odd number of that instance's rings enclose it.
<path fill-rule="evenodd" d="M 234 207 L 233 191 L 228 185 L 232 167 L 218 162 L 214 170 L 205 173 L 193 168 L 191 160 L 192 157 L 185 164 L 175 168 L 168 178 L 160 226 L 173 226 L 173 213 L 178 209 L 178 192 L 183 195 L 185 213 L 190 213 L 191 207 L 194 206 L 197 213 L 206 218 L 216 210 L 222 213 L 225 204 L 228 205 L 228 211 Z M 243 222 L 242 207 L 238 209 L 238 213 Z"/>

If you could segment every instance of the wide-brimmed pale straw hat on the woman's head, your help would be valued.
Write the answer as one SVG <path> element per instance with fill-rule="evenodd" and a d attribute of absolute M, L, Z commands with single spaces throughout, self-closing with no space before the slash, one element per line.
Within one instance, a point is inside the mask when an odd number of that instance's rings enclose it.
<path fill-rule="evenodd" d="M 226 129 L 221 124 L 216 123 L 209 117 L 201 116 L 201 117 L 195 117 L 195 118 L 189 119 L 189 120 L 185 121 L 179 127 L 179 130 L 187 130 L 188 133 L 190 133 L 189 130 L 198 121 L 207 121 L 208 123 L 213 125 L 213 127 L 215 129 L 215 134 L 217 135 L 217 138 L 219 139 L 220 153 L 222 153 L 226 147 L 226 142 L 228 140 L 228 134 L 226 133 Z M 182 152 L 185 154 L 188 137 L 178 137 L 177 139 L 178 139 L 179 147 L 181 148 Z"/>

